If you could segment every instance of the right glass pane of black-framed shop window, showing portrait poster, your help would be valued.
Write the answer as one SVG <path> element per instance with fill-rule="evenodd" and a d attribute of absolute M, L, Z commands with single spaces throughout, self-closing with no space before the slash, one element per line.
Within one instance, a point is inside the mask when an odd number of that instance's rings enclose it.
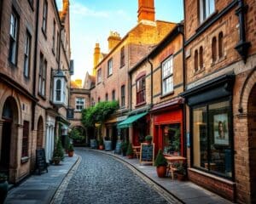
<path fill-rule="evenodd" d="M 209 105 L 209 139 L 211 145 L 209 170 L 232 176 L 230 145 L 230 102 Z"/>

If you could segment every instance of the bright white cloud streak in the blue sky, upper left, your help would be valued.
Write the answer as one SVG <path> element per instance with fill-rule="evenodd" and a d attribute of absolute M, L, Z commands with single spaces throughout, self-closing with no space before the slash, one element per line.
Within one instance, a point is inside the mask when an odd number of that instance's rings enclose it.
<path fill-rule="evenodd" d="M 90 8 L 87 8 L 81 3 L 73 3 L 71 4 L 71 12 L 73 14 L 79 14 L 82 16 L 92 16 L 92 17 L 104 17 L 108 18 L 109 13 L 107 11 L 96 11 Z"/>

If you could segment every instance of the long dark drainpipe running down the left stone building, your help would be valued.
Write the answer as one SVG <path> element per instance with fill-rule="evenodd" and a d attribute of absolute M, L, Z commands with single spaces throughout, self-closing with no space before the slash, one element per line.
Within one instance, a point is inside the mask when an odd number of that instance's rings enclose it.
<path fill-rule="evenodd" d="M 36 83 L 37 83 L 37 64 L 38 64 L 38 19 L 39 19 L 39 0 L 37 1 L 37 19 L 36 19 L 36 34 L 35 34 L 35 48 L 34 48 L 34 69 L 33 69 L 33 96 L 36 97 Z M 35 113 L 36 102 L 32 101 L 32 130 L 35 129 Z"/>

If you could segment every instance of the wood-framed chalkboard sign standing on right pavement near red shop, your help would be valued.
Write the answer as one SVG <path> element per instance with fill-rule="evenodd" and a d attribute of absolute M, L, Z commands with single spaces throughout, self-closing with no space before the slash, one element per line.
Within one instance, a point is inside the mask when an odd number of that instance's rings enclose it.
<path fill-rule="evenodd" d="M 154 161 L 154 144 L 141 144 L 140 162 L 152 163 Z"/>

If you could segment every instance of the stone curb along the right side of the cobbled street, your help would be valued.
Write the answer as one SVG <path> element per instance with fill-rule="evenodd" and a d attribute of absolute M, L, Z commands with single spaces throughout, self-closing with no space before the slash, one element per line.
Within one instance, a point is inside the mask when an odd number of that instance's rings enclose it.
<path fill-rule="evenodd" d="M 185 203 L 184 201 L 182 201 L 180 198 L 177 197 L 177 195 L 172 194 L 171 191 L 166 190 L 166 188 L 160 184 L 158 184 L 157 182 L 154 181 L 154 179 L 148 177 L 147 174 L 143 173 L 141 170 L 137 169 L 137 167 L 135 167 L 133 164 L 129 163 L 128 161 L 125 161 L 124 159 L 122 159 L 119 156 L 114 155 L 113 153 L 110 153 L 112 151 L 102 151 L 102 150 L 94 150 L 94 149 L 85 149 L 84 150 L 89 150 L 89 151 L 94 151 L 94 152 L 98 152 L 101 153 L 102 155 L 108 155 L 113 157 L 116 160 L 121 161 L 122 163 L 124 163 L 126 165 L 126 167 L 129 167 L 131 169 L 132 172 L 136 173 L 140 178 L 143 178 L 143 180 L 148 183 L 148 184 L 153 184 L 154 190 L 156 190 L 157 192 L 160 193 L 160 195 L 162 195 L 166 201 L 170 201 L 172 200 L 172 198 L 175 198 L 177 201 L 181 202 L 181 203 Z M 146 179 L 145 179 L 146 178 Z M 148 182 L 149 181 L 149 182 Z M 171 198 L 170 198 L 171 197 Z M 172 200 L 173 201 L 173 200 Z"/>

